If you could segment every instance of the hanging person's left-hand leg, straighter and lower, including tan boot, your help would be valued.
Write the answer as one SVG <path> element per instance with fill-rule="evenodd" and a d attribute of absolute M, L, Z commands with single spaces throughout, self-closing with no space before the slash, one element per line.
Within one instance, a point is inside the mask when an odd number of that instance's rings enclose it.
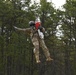
<path fill-rule="evenodd" d="M 34 45 L 33 52 L 35 54 L 36 62 L 40 63 L 40 59 L 39 59 L 39 41 L 38 41 L 38 39 L 34 38 L 32 43 Z"/>

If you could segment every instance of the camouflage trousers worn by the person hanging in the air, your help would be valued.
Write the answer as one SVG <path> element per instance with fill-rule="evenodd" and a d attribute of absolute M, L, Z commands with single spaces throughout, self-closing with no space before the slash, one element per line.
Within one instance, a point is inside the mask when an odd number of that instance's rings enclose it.
<path fill-rule="evenodd" d="M 39 61 L 39 47 L 42 48 L 43 52 L 44 52 L 44 55 L 47 58 L 50 57 L 50 53 L 49 53 L 49 50 L 44 42 L 44 39 L 37 39 L 37 38 L 33 38 L 32 39 L 32 43 L 34 45 L 34 54 L 35 54 L 35 58 L 36 58 L 36 61 Z"/>

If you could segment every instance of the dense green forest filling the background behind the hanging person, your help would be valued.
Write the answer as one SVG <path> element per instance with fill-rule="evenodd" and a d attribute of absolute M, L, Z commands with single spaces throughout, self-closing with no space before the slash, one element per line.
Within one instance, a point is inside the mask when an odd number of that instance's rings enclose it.
<path fill-rule="evenodd" d="M 0 0 L 0 75 L 76 75 L 76 1 L 66 0 L 63 10 L 46 0 L 30 4 Z M 36 64 L 29 35 L 13 28 L 29 27 L 36 15 L 46 29 L 45 42 L 54 59 L 50 64 L 41 48 L 42 63 Z"/>

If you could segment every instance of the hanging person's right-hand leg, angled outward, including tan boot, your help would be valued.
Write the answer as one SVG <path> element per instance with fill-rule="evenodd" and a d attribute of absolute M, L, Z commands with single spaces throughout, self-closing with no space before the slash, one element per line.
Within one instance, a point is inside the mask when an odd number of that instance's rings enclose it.
<path fill-rule="evenodd" d="M 53 60 L 51 57 L 50 57 L 50 52 L 44 42 L 43 39 L 40 39 L 40 46 L 42 47 L 43 51 L 44 51 L 44 54 L 45 54 L 45 57 L 46 57 L 46 61 L 51 61 Z"/>

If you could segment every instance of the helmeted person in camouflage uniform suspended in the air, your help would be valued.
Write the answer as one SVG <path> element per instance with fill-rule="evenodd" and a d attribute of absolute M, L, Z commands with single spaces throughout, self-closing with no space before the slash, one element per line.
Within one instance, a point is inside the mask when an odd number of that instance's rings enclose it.
<path fill-rule="evenodd" d="M 44 54 L 45 54 L 45 57 L 46 57 L 46 61 L 51 61 L 53 60 L 51 57 L 50 57 L 50 52 L 44 42 L 44 38 L 41 39 L 38 35 L 38 31 L 37 29 L 35 28 L 35 22 L 34 21 L 30 21 L 29 22 L 29 25 L 30 27 L 29 28 L 18 28 L 18 27 L 15 27 L 14 28 L 16 30 L 19 30 L 19 31 L 23 31 L 23 32 L 26 32 L 26 33 L 29 33 L 30 37 L 31 37 L 31 41 L 33 43 L 33 46 L 34 46 L 34 49 L 33 49 L 33 52 L 34 52 L 34 55 L 35 55 L 35 59 L 36 59 L 36 63 L 40 63 L 40 58 L 39 58 L 39 47 L 42 47 L 42 50 L 44 51 Z M 42 32 L 45 32 L 45 29 L 42 28 Z"/>

